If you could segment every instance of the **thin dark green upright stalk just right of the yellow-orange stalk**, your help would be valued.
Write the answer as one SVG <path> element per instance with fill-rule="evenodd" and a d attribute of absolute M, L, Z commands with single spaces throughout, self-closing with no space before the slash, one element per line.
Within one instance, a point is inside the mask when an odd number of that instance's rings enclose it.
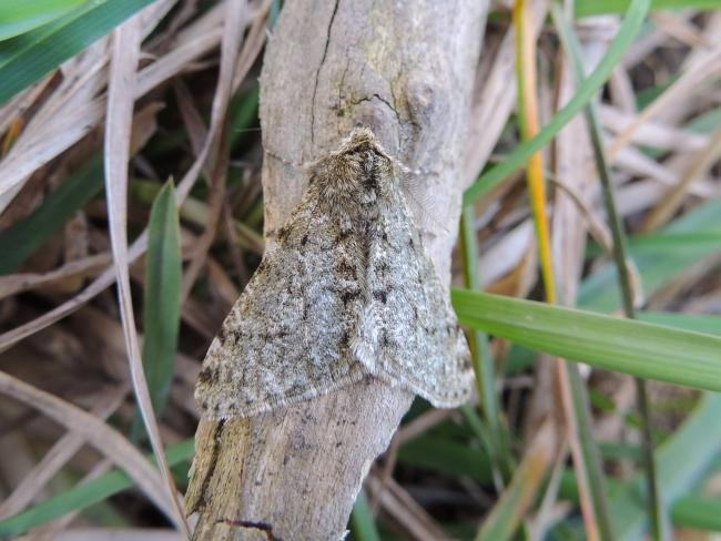
<path fill-rule="evenodd" d="M 570 59 L 573 74 L 578 83 L 583 79 L 583 69 L 580 59 L 580 44 L 578 43 L 576 34 L 563 17 L 561 8 L 556 2 L 554 2 L 551 6 L 551 13 L 561 37 L 566 52 Z M 630 269 L 628 265 L 626 234 L 623 232 L 623 224 L 621 223 L 621 217 L 618 213 L 618 206 L 616 204 L 616 192 L 613 188 L 613 183 L 611 181 L 608 159 L 606 156 L 601 123 L 599 121 L 598 110 L 593 100 L 591 100 L 586 106 L 585 114 L 588 122 L 589 135 L 593 147 L 593 155 L 596 157 L 599 177 L 601 180 L 603 204 L 606 206 L 606 212 L 608 214 L 609 225 L 611 228 L 611 235 L 613 238 L 612 253 L 619 274 L 619 285 L 621 288 L 621 298 L 623 302 L 623 314 L 629 319 L 636 319 L 636 307 L 633 306 L 633 292 L 631 287 Z M 648 506 L 649 514 L 651 518 L 651 532 L 653 539 L 659 540 L 664 537 L 662 521 L 663 513 L 661 508 L 661 496 L 658 486 L 657 465 L 653 456 L 650 405 L 646 389 L 646 381 L 641 378 L 634 378 L 634 381 L 638 409 L 641 418 L 640 426 L 642 435 L 642 453 L 649 493 Z"/>

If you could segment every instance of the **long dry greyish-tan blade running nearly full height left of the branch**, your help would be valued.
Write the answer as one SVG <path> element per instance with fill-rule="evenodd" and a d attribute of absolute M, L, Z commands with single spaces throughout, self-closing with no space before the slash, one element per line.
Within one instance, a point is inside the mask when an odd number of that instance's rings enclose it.
<path fill-rule="evenodd" d="M 185 516 L 177 499 L 177 490 L 170 471 L 163 443 L 158 427 L 158 420 L 148 389 L 140 354 L 138 330 L 133 314 L 133 302 L 130 292 L 130 273 L 128 257 L 128 234 L 125 220 L 128 215 L 128 162 L 130 160 L 130 136 L 133 118 L 135 71 L 140 57 L 140 16 L 123 23 L 113 35 L 112 62 L 108 85 L 108 113 L 105 124 L 105 193 L 108 197 L 108 217 L 110 221 L 110 238 L 113 259 L 118 273 L 118 297 L 120 315 L 123 324 L 123 336 L 130 361 L 130 374 L 133 389 L 138 398 L 141 416 L 150 437 L 153 452 L 158 458 L 161 474 L 170 491 L 175 520 L 185 534 L 190 531 L 185 524 Z"/>

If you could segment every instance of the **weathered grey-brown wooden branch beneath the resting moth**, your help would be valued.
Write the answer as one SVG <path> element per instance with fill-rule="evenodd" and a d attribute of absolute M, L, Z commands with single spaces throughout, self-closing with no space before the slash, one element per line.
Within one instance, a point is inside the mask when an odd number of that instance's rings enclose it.
<path fill-rule="evenodd" d="M 478 0 L 285 3 L 261 78 L 266 233 L 299 201 L 303 164 L 366 125 L 412 170 L 416 222 L 448 284 L 485 11 Z M 186 496 L 194 538 L 342 538 L 412 400 L 369 380 L 248 420 L 202 419 Z"/>

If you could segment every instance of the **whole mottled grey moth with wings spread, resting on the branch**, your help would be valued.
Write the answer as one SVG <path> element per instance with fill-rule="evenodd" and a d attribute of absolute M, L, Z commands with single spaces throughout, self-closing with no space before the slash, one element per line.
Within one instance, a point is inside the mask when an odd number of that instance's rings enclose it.
<path fill-rule="evenodd" d="M 210 346 L 195 390 L 203 411 L 248 417 L 368 376 L 437 407 L 466 401 L 468 346 L 414 225 L 402 167 L 357 129 L 308 173 Z"/>

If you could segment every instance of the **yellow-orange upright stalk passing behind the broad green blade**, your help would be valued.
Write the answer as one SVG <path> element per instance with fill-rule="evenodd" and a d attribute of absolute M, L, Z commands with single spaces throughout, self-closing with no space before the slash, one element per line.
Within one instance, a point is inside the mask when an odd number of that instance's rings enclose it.
<path fill-rule="evenodd" d="M 536 43 L 528 29 L 525 0 L 517 0 L 512 18 L 516 27 L 518 116 L 521 139 L 524 142 L 528 142 L 537 136 L 540 127 L 536 98 Z M 549 304 L 557 304 L 558 296 L 546 211 L 546 178 L 540 151 L 534 153 L 529 159 L 527 181 L 546 298 Z M 606 500 L 600 455 L 591 437 L 591 416 L 586 387 L 578 367 L 573 364 L 569 365 L 559 359 L 557 374 L 560 382 L 561 406 L 567 417 L 573 466 L 582 496 L 581 510 L 586 531 L 589 539 L 610 541 L 613 539 L 611 520 Z"/>

